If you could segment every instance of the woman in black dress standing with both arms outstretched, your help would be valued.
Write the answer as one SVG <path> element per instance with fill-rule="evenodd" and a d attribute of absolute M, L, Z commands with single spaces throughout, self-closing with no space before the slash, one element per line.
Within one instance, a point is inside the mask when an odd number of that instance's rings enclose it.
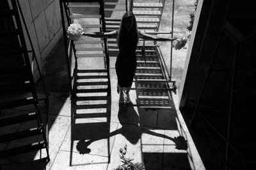
<path fill-rule="evenodd" d="M 116 58 L 117 92 L 119 103 L 131 103 L 129 92 L 136 71 L 136 47 L 139 38 L 152 41 L 173 41 L 177 38 L 163 38 L 138 31 L 136 18 L 131 11 L 125 12 L 118 31 L 84 33 L 94 38 L 116 38 L 119 53 Z"/>

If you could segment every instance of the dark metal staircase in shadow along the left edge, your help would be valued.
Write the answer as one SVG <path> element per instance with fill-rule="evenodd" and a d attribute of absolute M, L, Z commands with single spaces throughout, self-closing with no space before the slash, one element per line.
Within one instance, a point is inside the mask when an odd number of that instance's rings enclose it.
<path fill-rule="evenodd" d="M 4 10 L 0 12 L 1 19 L 3 19 L 0 28 L 0 111 L 2 110 L 4 114 L 0 114 L 0 143 L 3 146 L 0 150 L 0 159 L 45 149 L 45 159 L 49 161 L 47 134 L 45 134 L 45 127 L 38 109 L 38 95 L 36 94 L 33 70 L 29 60 L 29 56 L 32 57 L 32 60 L 36 60 L 35 51 L 20 10 L 19 1 L 12 0 L 10 4 L 8 1 L 1 3 Z M 32 50 L 27 49 L 20 16 Z M 36 64 L 41 76 L 37 60 Z M 42 77 L 40 78 L 42 80 Z M 47 103 L 46 91 L 45 96 L 43 100 Z M 26 105 L 32 105 L 33 111 L 5 114 L 6 109 Z M 15 126 L 18 127 L 16 131 L 10 131 L 12 129 L 10 127 Z M 24 129 L 24 127 L 26 128 Z M 22 142 L 17 142 L 20 139 Z"/>

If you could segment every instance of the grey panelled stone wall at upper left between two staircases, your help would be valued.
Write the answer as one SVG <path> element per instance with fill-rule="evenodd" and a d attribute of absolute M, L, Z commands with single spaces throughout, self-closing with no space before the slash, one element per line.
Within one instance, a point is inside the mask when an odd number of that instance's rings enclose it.
<path fill-rule="evenodd" d="M 42 67 L 45 57 L 63 36 L 59 0 L 21 0 L 19 3 L 36 57 Z M 30 50 L 31 46 L 25 28 L 23 31 L 28 50 Z M 33 62 L 33 66 L 35 80 L 38 80 L 38 69 L 35 62 Z"/>

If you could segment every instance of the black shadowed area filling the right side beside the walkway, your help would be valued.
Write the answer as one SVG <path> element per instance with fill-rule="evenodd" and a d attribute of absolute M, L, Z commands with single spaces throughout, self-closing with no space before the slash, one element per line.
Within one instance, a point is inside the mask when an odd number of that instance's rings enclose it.
<path fill-rule="evenodd" d="M 202 6 L 180 108 L 206 169 L 254 167 L 255 5 Z"/>

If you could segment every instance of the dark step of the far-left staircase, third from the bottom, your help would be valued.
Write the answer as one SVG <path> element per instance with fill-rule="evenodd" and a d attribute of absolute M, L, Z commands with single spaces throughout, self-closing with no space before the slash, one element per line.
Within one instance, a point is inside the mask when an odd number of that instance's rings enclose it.
<path fill-rule="evenodd" d="M 17 117 L 0 119 L 0 127 L 4 127 L 12 124 L 19 124 L 22 122 L 28 122 L 30 120 L 36 120 L 38 115 L 36 113 L 28 113 L 27 115 L 20 115 Z"/>

